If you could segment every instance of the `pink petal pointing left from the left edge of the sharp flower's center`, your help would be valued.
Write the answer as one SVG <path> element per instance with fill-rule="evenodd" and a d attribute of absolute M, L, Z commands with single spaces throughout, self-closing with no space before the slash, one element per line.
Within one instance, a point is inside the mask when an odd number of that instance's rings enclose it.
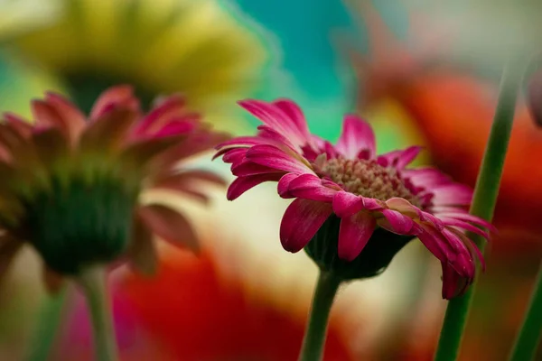
<path fill-rule="evenodd" d="M 313 173 L 313 170 L 305 162 L 273 145 L 255 145 L 248 150 L 246 158 L 250 162 L 275 168 L 279 171 Z"/>

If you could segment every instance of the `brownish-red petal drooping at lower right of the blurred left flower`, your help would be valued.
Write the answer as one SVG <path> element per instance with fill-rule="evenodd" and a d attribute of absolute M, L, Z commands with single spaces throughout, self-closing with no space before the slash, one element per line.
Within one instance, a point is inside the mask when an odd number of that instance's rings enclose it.
<path fill-rule="evenodd" d="M 191 224 L 181 213 L 159 204 L 142 206 L 137 214 L 157 236 L 173 245 L 185 245 L 198 252 L 200 245 Z"/>

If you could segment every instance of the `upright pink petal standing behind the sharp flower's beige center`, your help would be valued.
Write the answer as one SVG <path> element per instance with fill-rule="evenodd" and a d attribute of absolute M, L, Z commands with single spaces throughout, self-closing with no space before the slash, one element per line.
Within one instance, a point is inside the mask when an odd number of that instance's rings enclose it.
<path fill-rule="evenodd" d="M 370 125 L 358 116 L 344 117 L 342 134 L 335 146 L 337 151 L 349 159 L 356 159 L 360 151 L 369 151 L 369 158 L 376 152 L 375 134 Z"/>

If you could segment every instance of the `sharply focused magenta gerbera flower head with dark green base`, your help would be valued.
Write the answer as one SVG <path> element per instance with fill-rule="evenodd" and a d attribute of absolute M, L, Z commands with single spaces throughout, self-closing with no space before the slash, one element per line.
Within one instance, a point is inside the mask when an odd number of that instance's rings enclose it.
<path fill-rule="evenodd" d="M 240 102 L 264 125 L 256 136 L 221 143 L 216 156 L 238 178 L 236 199 L 265 181 L 294 199 L 280 228 L 285 250 L 305 248 L 326 271 L 344 279 L 383 271 L 406 242 L 418 237 L 443 266 L 443 297 L 464 292 L 482 256 L 465 235 L 485 238 L 491 225 L 465 209 L 472 190 L 432 168 L 408 169 L 421 147 L 377 155 L 370 126 L 345 116 L 336 144 L 310 134 L 301 109 L 290 100 Z"/>

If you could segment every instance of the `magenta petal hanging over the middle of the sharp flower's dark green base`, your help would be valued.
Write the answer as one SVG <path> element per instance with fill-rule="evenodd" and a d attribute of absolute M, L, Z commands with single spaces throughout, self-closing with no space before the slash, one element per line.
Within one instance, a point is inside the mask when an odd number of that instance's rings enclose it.
<path fill-rule="evenodd" d="M 367 212 L 342 218 L 339 230 L 339 258 L 350 262 L 360 255 L 375 227 L 375 218 Z"/>

